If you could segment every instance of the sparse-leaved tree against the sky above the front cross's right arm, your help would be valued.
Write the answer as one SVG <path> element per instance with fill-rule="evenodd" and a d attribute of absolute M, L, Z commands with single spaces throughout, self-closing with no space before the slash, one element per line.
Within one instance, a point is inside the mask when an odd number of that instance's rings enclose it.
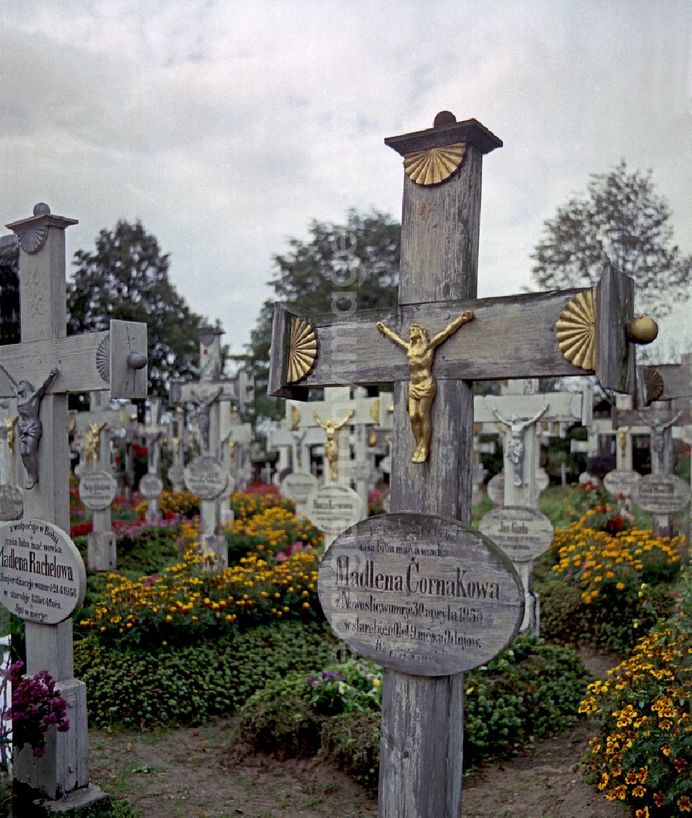
<path fill-rule="evenodd" d="M 670 216 L 651 171 L 630 172 L 622 160 L 593 174 L 586 196 L 574 196 L 544 222 L 533 280 L 541 290 L 591 286 L 611 263 L 635 280 L 638 310 L 663 316 L 676 296 L 690 295 L 692 269 L 692 256 L 672 244 Z"/>

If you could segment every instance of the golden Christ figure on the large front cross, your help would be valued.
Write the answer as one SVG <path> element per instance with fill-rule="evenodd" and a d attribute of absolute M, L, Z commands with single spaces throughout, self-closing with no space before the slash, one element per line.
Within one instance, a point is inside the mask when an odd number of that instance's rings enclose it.
<path fill-rule="evenodd" d="M 435 350 L 443 344 L 462 324 L 470 321 L 474 313 L 467 309 L 455 318 L 434 338 L 428 338 L 428 330 L 422 324 L 411 324 L 408 330 L 409 340 L 405 341 L 396 332 L 384 326 L 382 321 L 377 322 L 377 329 L 385 338 L 406 350 L 408 367 L 411 371 L 411 380 L 408 382 L 408 414 L 411 416 L 411 429 L 416 438 L 416 452 L 411 461 L 425 463 L 430 451 L 430 437 L 433 427 L 430 423 L 430 407 L 433 404 L 435 393 L 438 391 L 437 381 L 432 373 Z"/>

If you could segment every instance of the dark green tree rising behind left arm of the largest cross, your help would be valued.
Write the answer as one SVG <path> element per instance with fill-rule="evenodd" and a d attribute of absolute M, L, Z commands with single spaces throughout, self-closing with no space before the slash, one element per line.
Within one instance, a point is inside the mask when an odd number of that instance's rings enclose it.
<path fill-rule="evenodd" d="M 257 396 L 249 420 L 283 416 L 283 401 L 267 397 L 274 301 L 312 312 L 348 312 L 397 303 L 401 226 L 384 213 L 348 210 L 344 224 L 314 220 L 306 241 L 291 238 L 276 254 L 275 298 L 263 303 L 250 333 L 247 361 Z"/>

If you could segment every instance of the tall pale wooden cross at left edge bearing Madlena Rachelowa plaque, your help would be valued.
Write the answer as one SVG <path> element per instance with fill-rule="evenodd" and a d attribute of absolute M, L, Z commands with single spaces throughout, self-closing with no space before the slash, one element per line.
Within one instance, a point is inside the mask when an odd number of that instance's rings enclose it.
<path fill-rule="evenodd" d="M 63 569 L 74 576 L 74 598 L 47 594 L 64 609 L 62 621 L 56 621 L 61 613 L 44 618 L 40 603 L 25 612 L 26 672 L 34 676 L 47 670 L 70 705 L 70 730 L 53 731 L 42 758 L 35 758 L 31 748 L 16 753 L 16 782 L 43 790 L 48 798 L 88 787 L 87 696 L 83 682 L 74 679 L 70 618 L 83 600 L 84 568 L 74 544 L 61 533 L 70 531 L 67 396 L 109 388 L 113 398 L 146 396 L 146 324 L 110 321 L 105 332 L 67 337 L 65 229 L 76 223 L 39 204 L 33 217 L 7 225 L 20 243 L 21 343 L 0 347 L 6 373 L 0 375 L 0 398 L 19 398 L 20 455 L 25 486 L 32 486 L 25 490 L 21 523 L 33 527 L 32 521 L 43 521 L 32 528 L 37 545 L 41 537 L 55 536 L 63 541 L 65 562 L 75 552 L 79 560 Z M 4 538 L 12 525 L 6 524 Z M 3 588 L 3 600 L 6 593 Z M 40 624 L 42 619 L 55 624 Z"/>

